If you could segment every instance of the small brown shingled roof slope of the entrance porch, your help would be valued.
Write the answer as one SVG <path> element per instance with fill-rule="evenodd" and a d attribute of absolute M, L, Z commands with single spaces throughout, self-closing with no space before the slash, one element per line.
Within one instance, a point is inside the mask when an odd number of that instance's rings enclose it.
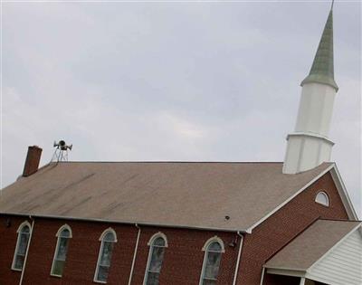
<path fill-rule="evenodd" d="M 358 224 L 361 222 L 318 220 L 267 261 L 264 267 L 307 271 Z"/>

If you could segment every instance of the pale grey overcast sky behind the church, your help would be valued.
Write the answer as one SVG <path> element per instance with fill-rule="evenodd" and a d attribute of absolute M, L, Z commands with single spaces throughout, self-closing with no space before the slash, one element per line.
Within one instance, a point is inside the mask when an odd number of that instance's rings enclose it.
<path fill-rule="evenodd" d="M 2 186 L 59 139 L 70 160 L 282 161 L 329 6 L 3 4 Z M 361 213 L 360 2 L 334 28 L 332 160 Z"/>

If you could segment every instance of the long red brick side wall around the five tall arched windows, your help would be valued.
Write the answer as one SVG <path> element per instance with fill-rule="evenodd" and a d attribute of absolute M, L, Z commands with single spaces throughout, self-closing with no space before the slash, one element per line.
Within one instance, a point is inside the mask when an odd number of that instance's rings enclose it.
<path fill-rule="evenodd" d="M 7 216 L 0 217 L 0 284 L 18 284 L 21 272 L 12 271 L 11 263 L 17 237 L 17 227 L 23 218 L 11 216 L 12 225 L 5 227 Z M 50 275 L 58 229 L 67 223 L 71 226 L 72 238 L 69 243 L 67 261 L 62 278 Z M 112 255 L 108 284 L 128 284 L 138 229 L 133 225 L 115 223 L 85 223 L 35 218 L 33 237 L 24 271 L 23 284 L 90 284 L 100 250 L 100 234 L 112 227 L 118 237 Z M 235 233 L 215 233 L 182 229 L 141 227 L 138 255 L 132 284 L 142 284 L 148 261 L 148 241 L 154 233 L 167 235 L 168 248 L 160 275 L 160 284 L 198 284 L 204 261 L 202 248 L 214 235 L 225 245 L 219 271 L 219 284 L 231 284 L 235 269 L 237 246 L 228 244 L 235 239 Z M 5 251 L 3 251 L 5 249 Z M 94 284 L 94 283 L 93 283 Z"/>

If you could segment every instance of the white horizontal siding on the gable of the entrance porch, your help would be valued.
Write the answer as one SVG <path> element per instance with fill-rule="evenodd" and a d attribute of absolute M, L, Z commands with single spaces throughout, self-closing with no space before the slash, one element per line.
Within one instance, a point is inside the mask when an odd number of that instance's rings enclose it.
<path fill-rule="evenodd" d="M 358 230 L 310 267 L 307 278 L 331 285 L 361 285 L 362 236 Z"/>

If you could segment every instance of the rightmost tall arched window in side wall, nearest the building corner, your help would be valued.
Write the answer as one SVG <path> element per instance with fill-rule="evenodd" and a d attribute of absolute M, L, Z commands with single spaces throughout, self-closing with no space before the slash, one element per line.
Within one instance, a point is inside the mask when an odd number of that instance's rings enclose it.
<path fill-rule="evenodd" d="M 205 257 L 200 285 L 214 285 L 219 274 L 221 256 L 224 252 L 224 242 L 215 236 L 205 243 L 203 251 L 205 251 Z"/>

